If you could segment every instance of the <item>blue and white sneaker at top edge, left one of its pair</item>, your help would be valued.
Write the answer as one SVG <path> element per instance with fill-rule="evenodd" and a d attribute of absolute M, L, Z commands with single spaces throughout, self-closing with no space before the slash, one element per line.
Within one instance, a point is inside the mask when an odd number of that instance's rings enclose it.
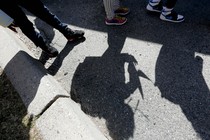
<path fill-rule="evenodd" d="M 162 1 L 160 2 L 149 2 L 149 4 L 146 7 L 147 11 L 150 12 L 157 12 L 157 13 L 161 13 L 162 9 L 163 9 L 163 4 Z"/>

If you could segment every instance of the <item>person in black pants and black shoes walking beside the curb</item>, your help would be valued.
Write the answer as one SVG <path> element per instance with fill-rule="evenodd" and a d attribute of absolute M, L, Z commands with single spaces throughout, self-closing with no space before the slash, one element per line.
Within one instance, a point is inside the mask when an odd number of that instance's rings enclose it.
<path fill-rule="evenodd" d="M 72 30 L 66 24 L 61 22 L 58 17 L 52 14 L 49 9 L 40 0 L 5 0 L 1 2 L 0 9 L 14 19 L 15 24 L 21 31 L 38 47 L 46 52 L 49 57 L 56 57 L 58 51 L 56 48 L 47 44 L 40 33 L 35 31 L 21 7 L 25 8 L 41 20 L 59 30 L 68 41 L 74 41 L 84 36 L 81 30 Z"/>

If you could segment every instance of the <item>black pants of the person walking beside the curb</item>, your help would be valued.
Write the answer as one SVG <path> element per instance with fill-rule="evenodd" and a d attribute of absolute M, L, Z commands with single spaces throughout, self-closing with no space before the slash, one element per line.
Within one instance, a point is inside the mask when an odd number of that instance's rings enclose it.
<path fill-rule="evenodd" d="M 5 0 L 2 2 L 0 9 L 14 19 L 22 32 L 33 41 L 36 46 L 42 48 L 45 46 L 45 42 L 42 36 L 35 31 L 33 24 L 28 20 L 20 6 L 52 27 L 58 29 L 61 33 L 65 31 L 66 25 L 53 15 L 40 0 Z"/>

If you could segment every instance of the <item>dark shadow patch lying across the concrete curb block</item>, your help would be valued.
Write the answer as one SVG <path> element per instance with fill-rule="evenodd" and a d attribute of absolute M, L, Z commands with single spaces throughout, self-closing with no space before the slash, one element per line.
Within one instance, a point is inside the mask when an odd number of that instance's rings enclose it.
<path fill-rule="evenodd" d="M 20 96 L 25 103 L 26 108 L 29 107 L 30 103 L 34 100 L 37 90 L 39 88 L 42 77 L 45 76 L 44 72 L 37 70 L 38 74 L 32 76 L 27 76 L 33 74 L 34 69 L 37 66 L 43 67 L 40 62 L 34 59 L 34 61 L 28 61 L 31 58 L 29 54 L 25 51 L 19 51 L 6 65 L 5 71 L 9 78 L 14 78 L 13 85 L 16 85 L 17 91 L 22 91 Z M 35 67 L 33 67 L 33 65 Z M 24 67 L 31 66 L 31 67 Z M 14 74 L 15 73 L 15 74 Z M 47 75 L 47 73 L 46 73 Z M 30 93 L 30 94 L 29 94 Z"/>

